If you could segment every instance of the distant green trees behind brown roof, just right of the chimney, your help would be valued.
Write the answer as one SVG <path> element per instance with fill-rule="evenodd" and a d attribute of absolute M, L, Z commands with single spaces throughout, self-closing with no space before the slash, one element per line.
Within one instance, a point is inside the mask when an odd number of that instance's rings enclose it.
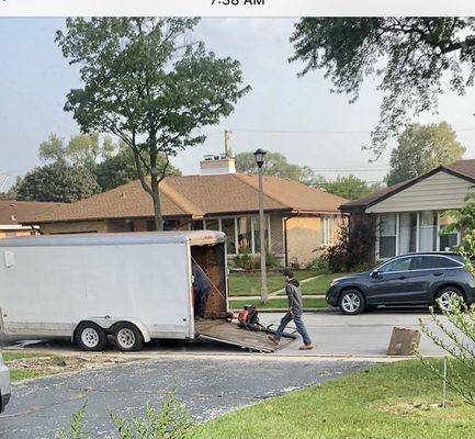
<path fill-rule="evenodd" d="M 262 169 L 265 176 L 287 178 L 305 184 L 313 184 L 318 179 L 312 168 L 290 164 L 281 153 L 268 153 Z M 253 151 L 236 155 L 236 170 L 247 173 L 259 172 Z"/>

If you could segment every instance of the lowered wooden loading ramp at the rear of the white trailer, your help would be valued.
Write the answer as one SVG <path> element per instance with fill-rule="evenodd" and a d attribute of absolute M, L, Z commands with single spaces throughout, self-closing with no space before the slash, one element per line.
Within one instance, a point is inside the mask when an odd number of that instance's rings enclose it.
<path fill-rule="evenodd" d="M 259 352 L 275 352 L 289 346 L 293 339 L 282 337 L 279 346 L 269 340 L 269 334 L 240 328 L 236 323 L 220 319 L 195 322 L 196 336 L 219 341 L 226 345 L 239 346 Z"/>

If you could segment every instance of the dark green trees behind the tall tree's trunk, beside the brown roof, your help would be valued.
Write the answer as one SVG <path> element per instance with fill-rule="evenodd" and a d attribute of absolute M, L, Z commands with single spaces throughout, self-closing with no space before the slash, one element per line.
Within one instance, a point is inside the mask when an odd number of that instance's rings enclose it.
<path fill-rule="evenodd" d="M 166 168 L 166 176 L 181 176 L 180 169 L 172 165 L 167 166 L 167 159 L 161 154 L 157 158 L 157 168 Z M 143 167 L 142 172 L 146 173 L 147 169 Z M 133 151 L 127 145 L 122 143 L 117 154 L 105 158 L 95 166 L 94 175 L 102 191 L 109 191 L 110 189 L 136 180 L 137 169 Z"/>

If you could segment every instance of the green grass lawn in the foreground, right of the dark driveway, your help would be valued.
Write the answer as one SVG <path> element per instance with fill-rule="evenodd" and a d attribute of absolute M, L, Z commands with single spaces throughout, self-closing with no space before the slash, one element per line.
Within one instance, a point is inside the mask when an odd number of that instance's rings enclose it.
<path fill-rule="evenodd" d="M 441 361 L 438 361 L 441 367 Z M 466 376 L 474 380 L 475 376 Z M 419 360 L 380 365 L 229 413 L 199 427 L 197 439 L 466 439 L 475 407 L 453 394 Z"/>

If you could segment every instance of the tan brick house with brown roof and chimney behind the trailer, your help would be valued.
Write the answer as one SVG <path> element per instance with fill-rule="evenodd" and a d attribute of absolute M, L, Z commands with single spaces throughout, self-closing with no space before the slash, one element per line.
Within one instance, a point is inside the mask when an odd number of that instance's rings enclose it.
<path fill-rule="evenodd" d="M 260 254 L 258 176 L 219 171 L 210 161 L 202 175 L 168 177 L 160 183 L 165 229 L 223 230 L 229 258 Z M 346 201 L 293 180 L 264 177 L 268 250 L 282 263 L 305 266 L 333 241 L 338 207 Z M 137 180 L 23 224 L 37 224 L 44 234 L 144 232 L 154 228 L 154 212 Z"/>

